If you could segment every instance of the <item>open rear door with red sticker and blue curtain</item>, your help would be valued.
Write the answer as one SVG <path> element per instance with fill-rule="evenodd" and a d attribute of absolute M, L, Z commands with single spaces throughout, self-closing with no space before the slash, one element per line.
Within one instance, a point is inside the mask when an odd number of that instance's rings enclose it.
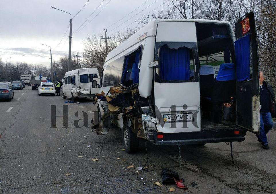
<path fill-rule="evenodd" d="M 260 125 L 259 63 L 254 13 L 235 24 L 237 124 L 257 133 Z"/>

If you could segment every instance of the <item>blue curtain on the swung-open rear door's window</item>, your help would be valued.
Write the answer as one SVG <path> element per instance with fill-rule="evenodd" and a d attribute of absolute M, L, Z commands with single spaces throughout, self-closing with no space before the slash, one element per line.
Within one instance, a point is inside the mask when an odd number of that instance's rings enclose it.
<path fill-rule="evenodd" d="M 250 78 L 250 35 L 235 41 L 237 81 Z"/>

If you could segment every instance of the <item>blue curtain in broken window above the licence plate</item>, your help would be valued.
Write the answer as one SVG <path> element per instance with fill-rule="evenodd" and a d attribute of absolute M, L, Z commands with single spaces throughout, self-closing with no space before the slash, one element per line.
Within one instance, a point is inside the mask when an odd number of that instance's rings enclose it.
<path fill-rule="evenodd" d="M 190 49 L 160 48 L 160 78 L 166 81 L 190 79 Z"/>

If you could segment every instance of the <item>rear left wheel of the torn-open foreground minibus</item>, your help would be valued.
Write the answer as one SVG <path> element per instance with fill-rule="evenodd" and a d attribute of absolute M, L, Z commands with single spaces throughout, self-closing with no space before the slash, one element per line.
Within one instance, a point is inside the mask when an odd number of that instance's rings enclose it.
<path fill-rule="evenodd" d="M 127 153 L 135 153 L 139 148 L 139 138 L 132 132 L 131 127 L 123 126 L 122 141 Z"/>

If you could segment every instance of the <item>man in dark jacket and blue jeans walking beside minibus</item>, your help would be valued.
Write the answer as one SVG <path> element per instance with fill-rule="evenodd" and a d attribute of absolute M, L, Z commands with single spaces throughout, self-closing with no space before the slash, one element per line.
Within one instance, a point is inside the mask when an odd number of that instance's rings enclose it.
<path fill-rule="evenodd" d="M 266 134 L 273 126 L 271 112 L 274 113 L 275 97 L 272 86 L 264 80 L 265 75 L 260 71 L 260 134 L 257 137 L 263 148 L 268 150 Z"/>

